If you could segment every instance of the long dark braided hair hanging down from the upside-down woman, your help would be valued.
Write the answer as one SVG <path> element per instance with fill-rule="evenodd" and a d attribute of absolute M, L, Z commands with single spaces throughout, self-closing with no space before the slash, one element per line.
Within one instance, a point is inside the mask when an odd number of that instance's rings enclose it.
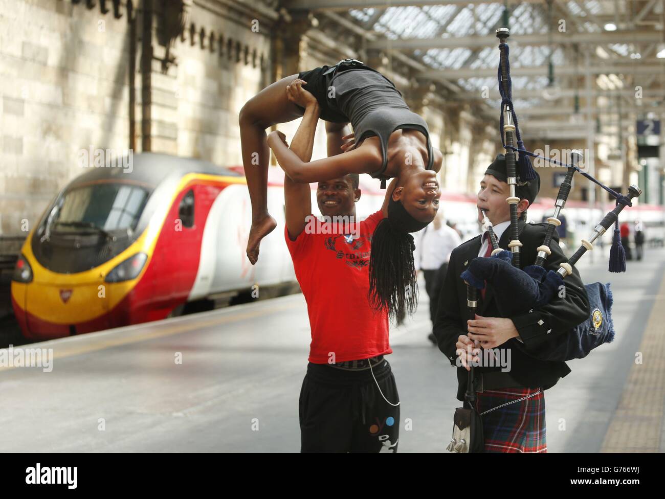
<path fill-rule="evenodd" d="M 390 320 L 404 323 L 406 313 L 416 312 L 418 282 L 414 265 L 416 245 L 410 232 L 423 229 L 427 223 L 408 214 L 400 201 L 388 203 L 388 217 L 376 225 L 370 251 L 370 305 L 384 308 Z"/>

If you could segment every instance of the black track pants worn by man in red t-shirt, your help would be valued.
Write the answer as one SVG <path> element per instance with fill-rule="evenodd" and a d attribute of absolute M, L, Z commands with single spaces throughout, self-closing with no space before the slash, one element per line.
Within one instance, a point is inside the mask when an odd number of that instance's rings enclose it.
<path fill-rule="evenodd" d="M 391 403 L 399 395 L 390 364 L 372 367 Z M 301 452 L 397 452 L 400 407 L 379 393 L 369 369 L 307 365 L 299 403 Z"/>

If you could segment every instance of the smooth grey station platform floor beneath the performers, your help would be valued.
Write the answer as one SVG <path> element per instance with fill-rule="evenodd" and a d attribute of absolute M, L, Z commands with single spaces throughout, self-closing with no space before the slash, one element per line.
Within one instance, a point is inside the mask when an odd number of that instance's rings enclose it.
<path fill-rule="evenodd" d="M 665 335 L 665 250 L 627 262 L 624 274 L 609 274 L 606 258 L 594 256 L 579 269 L 585 282 L 612 282 L 617 338 L 571 361 L 573 372 L 545 392 L 549 452 L 602 449 L 649 321 Z M 427 340 L 420 289 L 414 319 L 390 333 L 402 401 L 399 450 L 446 452 L 459 405 L 456 375 Z M 0 451 L 298 452 L 309 341 L 305 300 L 293 295 L 28 345 L 53 348 L 53 371 L 0 367 Z M 644 438 L 662 452 L 662 391 L 655 396 L 661 425 Z"/>

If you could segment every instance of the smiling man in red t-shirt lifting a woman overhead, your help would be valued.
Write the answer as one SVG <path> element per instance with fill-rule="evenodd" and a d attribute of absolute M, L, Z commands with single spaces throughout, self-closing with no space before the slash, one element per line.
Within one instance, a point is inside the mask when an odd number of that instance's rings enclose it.
<path fill-rule="evenodd" d="M 289 99 L 305 108 L 293 150 L 310 161 L 319 104 L 300 82 L 287 88 Z M 346 124 L 326 122 L 328 154 L 349 149 Z M 342 148 L 342 146 L 344 146 Z M 307 183 L 285 177 L 285 240 L 307 301 L 312 342 L 300 394 L 301 452 L 396 452 L 399 395 L 390 364 L 388 315 L 368 301 L 370 245 L 386 217 L 392 181 L 380 211 L 356 223 L 358 174 L 319 182 L 323 219 L 312 215 Z M 336 223 L 324 223 L 326 217 Z"/>

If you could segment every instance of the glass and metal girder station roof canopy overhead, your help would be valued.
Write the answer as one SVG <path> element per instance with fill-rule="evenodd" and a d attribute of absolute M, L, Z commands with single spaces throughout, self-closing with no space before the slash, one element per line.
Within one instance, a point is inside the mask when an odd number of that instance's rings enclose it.
<path fill-rule="evenodd" d="M 585 113 L 587 95 L 593 96 L 594 120 L 606 120 L 618 100 L 625 113 L 662 114 L 664 3 L 287 0 L 285 5 L 313 13 L 321 30 L 335 39 L 356 41 L 352 49 L 378 50 L 410 78 L 434 82 L 445 89 L 446 99 L 454 96 L 483 113 L 499 108 L 495 31 L 508 27 L 518 112 L 526 120 L 548 115 L 566 123 L 566 115 Z M 340 37 L 344 31 L 348 38 Z"/>

